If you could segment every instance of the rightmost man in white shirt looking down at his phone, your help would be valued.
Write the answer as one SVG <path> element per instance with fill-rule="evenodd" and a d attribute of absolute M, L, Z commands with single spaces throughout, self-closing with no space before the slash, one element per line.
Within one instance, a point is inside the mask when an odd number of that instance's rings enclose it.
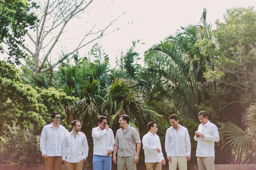
<path fill-rule="evenodd" d="M 201 124 L 195 132 L 194 139 L 197 141 L 196 156 L 199 170 L 214 170 L 214 142 L 219 142 L 220 136 L 216 125 L 208 120 L 205 111 L 198 113 Z"/>

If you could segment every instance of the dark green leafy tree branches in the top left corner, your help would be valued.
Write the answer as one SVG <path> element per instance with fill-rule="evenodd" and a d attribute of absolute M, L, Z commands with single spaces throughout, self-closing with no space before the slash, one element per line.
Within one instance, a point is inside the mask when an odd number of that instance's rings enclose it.
<path fill-rule="evenodd" d="M 35 3 L 31 5 L 36 6 Z M 27 55 L 20 50 L 19 44 L 23 46 L 26 28 L 32 28 L 37 20 L 36 15 L 29 12 L 30 8 L 27 0 L 0 0 L 0 43 L 9 46 L 9 58 Z M 3 52 L 2 46 L 0 52 Z M 19 63 L 19 57 L 16 57 L 16 63 Z"/>

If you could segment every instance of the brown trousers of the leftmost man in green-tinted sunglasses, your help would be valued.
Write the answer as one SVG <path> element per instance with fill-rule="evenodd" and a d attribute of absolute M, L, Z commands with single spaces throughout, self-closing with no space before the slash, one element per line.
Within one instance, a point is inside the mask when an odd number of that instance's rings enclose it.
<path fill-rule="evenodd" d="M 45 170 L 61 170 L 62 158 L 61 156 L 48 156 L 44 159 Z"/>

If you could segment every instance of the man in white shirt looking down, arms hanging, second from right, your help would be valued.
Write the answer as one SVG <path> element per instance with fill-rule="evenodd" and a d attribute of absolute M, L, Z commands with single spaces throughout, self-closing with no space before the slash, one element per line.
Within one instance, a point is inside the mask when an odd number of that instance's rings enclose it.
<path fill-rule="evenodd" d="M 165 152 L 169 161 L 169 170 L 187 170 L 187 161 L 190 160 L 190 139 L 188 129 L 179 124 L 178 116 L 169 116 L 171 127 L 166 130 Z"/>

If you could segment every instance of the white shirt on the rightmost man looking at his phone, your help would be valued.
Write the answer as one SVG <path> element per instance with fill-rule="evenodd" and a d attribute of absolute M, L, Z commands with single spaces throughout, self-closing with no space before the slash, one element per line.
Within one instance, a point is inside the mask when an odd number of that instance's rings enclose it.
<path fill-rule="evenodd" d="M 220 136 L 217 126 L 208 121 L 204 125 L 201 123 L 198 126 L 197 132 L 204 134 L 204 138 L 198 138 L 196 135 L 194 139 L 197 141 L 196 156 L 197 157 L 213 157 L 214 142 L 220 141 Z"/>

